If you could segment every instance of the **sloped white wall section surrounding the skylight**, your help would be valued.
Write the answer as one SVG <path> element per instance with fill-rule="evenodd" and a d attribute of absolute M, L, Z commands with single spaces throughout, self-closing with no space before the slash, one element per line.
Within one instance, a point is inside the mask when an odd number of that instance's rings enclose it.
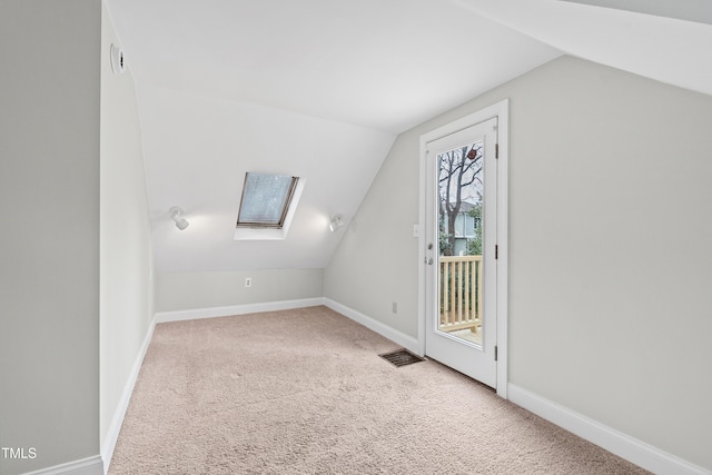
<path fill-rule="evenodd" d="M 146 79 L 137 87 L 160 273 L 323 268 L 339 238 L 329 217 L 354 215 L 395 138 Z M 300 178 L 304 192 L 286 239 L 234 239 L 247 171 Z M 186 211 L 185 231 L 168 216 L 172 206 Z"/>

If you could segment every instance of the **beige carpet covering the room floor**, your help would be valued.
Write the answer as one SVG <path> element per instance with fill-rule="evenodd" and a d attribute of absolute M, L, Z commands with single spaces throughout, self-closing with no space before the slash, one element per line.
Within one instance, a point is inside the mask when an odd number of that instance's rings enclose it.
<path fill-rule="evenodd" d="M 326 307 L 156 327 L 109 474 L 643 474 Z"/>

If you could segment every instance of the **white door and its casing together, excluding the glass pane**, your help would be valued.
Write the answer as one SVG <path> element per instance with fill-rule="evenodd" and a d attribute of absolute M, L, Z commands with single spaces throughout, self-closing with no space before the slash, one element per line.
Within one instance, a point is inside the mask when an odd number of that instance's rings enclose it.
<path fill-rule="evenodd" d="M 418 349 L 496 388 L 507 383 L 507 101 L 421 137 L 421 251 Z M 438 318 L 438 155 L 482 140 L 484 155 L 482 344 L 437 329 Z M 495 259 L 496 246 L 496 259 Z"/>

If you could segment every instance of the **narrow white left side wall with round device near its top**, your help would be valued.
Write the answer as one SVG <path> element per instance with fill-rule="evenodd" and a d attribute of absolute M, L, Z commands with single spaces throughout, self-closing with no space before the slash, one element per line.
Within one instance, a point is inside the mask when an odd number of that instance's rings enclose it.
<path fill-rule="evenodd" d="M 108 456 L 128 403 L 122 395 L 149 333 L 154 283 L 131 60 L 126 57 L 123 75 L 111 71 L 110 48 L 120 41 L 106 7 L 101 19 L 100 437 Z"/>

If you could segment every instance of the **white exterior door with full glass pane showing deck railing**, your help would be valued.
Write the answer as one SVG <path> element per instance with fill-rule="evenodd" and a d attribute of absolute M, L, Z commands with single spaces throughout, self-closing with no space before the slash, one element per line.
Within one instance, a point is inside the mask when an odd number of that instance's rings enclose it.
<path fill-rule="evenodd" d="M 497 118 L 425 147 L 425 354 L 496 388 Z"/>

